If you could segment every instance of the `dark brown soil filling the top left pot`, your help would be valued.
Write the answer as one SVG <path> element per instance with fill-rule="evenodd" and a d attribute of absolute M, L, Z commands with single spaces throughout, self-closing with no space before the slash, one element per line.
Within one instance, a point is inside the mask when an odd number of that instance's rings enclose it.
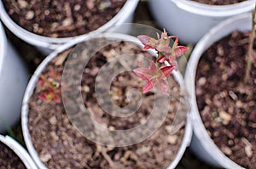
<path fill-rule="evenodd" d="M 45 37 L 74 37 L 94 31 L 117 14 L 125 0 L 3 0 L 9 16 Z"/>

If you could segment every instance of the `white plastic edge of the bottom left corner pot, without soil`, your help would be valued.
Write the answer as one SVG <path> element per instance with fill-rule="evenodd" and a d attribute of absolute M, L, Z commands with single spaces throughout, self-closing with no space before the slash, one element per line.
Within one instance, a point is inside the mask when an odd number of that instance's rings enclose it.
<path fill-rule="evenodd" d="M 8 146 L 12 149 L 17 156 L 20 157 L 20 160 L 28 169 L 37 169 L 38 167 L 35 165 L 34 161 L 30 155 L 28 155 L 26 149 L 24 149 L 14 138 L 10 138 L 9 136 L 0 135 L 0 142 Z"/>

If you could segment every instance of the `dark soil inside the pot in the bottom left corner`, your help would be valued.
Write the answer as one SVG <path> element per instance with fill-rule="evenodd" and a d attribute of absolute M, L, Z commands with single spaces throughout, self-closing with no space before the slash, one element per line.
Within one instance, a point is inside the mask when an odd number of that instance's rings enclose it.
<path fill-rule="evenodd" d="M 26 169 L 20 157 L 12 149 L 2 142 L 0 142 L 0 149 L 0 169 Z"/>

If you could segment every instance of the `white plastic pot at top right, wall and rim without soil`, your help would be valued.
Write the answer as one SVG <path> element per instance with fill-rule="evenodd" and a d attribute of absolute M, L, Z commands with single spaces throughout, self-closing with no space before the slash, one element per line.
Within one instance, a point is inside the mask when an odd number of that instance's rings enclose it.
<path fill-rule="evenodd" d="M 255 0 L 231 5 L 207 5 L 190 0 L 148 0 L 154 19 L 181 42 L 196 43 L 212 26 L 252 11 Z"/>

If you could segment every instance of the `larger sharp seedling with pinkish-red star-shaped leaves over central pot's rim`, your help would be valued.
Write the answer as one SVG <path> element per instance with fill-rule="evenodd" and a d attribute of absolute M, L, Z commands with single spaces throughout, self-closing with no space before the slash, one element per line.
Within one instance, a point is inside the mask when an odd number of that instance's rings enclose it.
<path fill-rule="evenodd" d="M 157 37 L 158 39 L 146 35 L 137 37 L 143 43 L 144 50 L 154 49 L 156 51 L 157 59 L 149 67 L 139 67 L 133 71 L 137 76 L 147 81 L 143 87 L 143 93 L 148 93 L 156 86 L 160 92 L 169 95 L 170 89 L 165 78 L 172 73 L 172 70 L 178 69 L 176 59 L 185 54 L 188 48 L 178 46 L 177 36 L 168 36 L 165 29 L 161 37 L 158 34 Z M 175 38 L 175 41 L 171 48 L 172 38 Z"/>

